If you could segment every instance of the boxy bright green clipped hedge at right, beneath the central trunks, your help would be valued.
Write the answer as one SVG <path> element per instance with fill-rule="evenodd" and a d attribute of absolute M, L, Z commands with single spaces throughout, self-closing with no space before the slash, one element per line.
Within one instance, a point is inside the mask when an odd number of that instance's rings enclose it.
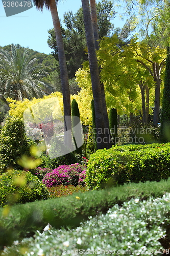
<path fill-rule="evenodd" d="M 170 176 L 170 143 L 114 146 L 90 156 L 86 171 L 89 189 L 128 182 L 160 181 Z"/>

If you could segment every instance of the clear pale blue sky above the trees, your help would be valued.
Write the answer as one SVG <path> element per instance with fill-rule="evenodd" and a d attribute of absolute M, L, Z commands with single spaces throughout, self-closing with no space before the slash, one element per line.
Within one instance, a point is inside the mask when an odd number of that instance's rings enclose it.
<path fill-rule="evenodd" d="M 45 54 L 51 53 L 52 49 L 48 47 L 46 42 L 48 38 L 47 30 L 53 28 L 50 11 L 44 9 L 41 12 L 33 6 L 33 8 L 25 12 L 6 17 L 3 1 L 0 0 L 0 46 L 19 44 L 22 47 L 29 47 Z M 57 6 L 59 18 L 63 20 L 65 12 L 70 10 L 76 13 L 80 7 L 81 0 L 60 1 Z M 114 24 L 115 27 L 123 26 L 118 14 L 114 19 Z"/>

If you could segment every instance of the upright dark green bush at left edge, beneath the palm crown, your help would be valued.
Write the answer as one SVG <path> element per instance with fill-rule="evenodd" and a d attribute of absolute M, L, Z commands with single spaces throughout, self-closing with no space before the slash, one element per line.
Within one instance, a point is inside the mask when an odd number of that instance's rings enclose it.
<path fill-rule="evenodd" d="M 22 169 L 16 162 L 22 155 L 28 155 L 35 144 L 27 138 L 23 120 L 8 117 L 0 135 L 0 173 L 7 168 Z"/>

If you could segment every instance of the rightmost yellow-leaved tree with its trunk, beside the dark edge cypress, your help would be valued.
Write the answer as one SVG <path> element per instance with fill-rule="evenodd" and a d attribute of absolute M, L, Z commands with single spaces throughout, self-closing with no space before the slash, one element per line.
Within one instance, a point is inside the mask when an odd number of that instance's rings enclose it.
<path fill-rule="evenodd" d="M 162 73 L 164 71 L 163 68 L 165 66 L 166 49 L 160 48 L 159 46 L 150 47 L 146 42 L 138 42 L 137 38 L 133 38 L 131 39 L 130 44 L 124 48 L 124 56 L 127 59 L 130 59 L 130 61 L 135 61 L 137 63 L 137 67 L 141 69 L 144 68 L 144 76 L 143 74 L 141 76 L 143 79 L 139 79 L 139 75 L 137 78 L 139 81 L 142 80 L 145 84 L 148 84 L 149 88 L 154 88 L 155 90 L 153 123 L 157 126 L 160 109 L 161 81 L 163 77 Z"/>

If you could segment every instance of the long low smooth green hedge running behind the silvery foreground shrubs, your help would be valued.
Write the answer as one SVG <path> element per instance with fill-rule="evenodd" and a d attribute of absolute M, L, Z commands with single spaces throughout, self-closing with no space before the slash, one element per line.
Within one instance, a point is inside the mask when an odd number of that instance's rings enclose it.
<path fill-rule="evenodd" d="M 42 231 L 50 223 L 55 228 L 76 227 L 96 212 L 106 213 L 115 204 L 122 205 L 131 198 L 146 200 L 150 196 L 162 197 L 170 193 L 170 179 L 160 182 L 131 183 L 107 190 L 87 191 L 65 198 L 36 201 L 0 208 L 0 246 Z M 79 198 L 76 198 L 79 197 Z M 12 254 L 11 254 L 12 255 Z"/>

